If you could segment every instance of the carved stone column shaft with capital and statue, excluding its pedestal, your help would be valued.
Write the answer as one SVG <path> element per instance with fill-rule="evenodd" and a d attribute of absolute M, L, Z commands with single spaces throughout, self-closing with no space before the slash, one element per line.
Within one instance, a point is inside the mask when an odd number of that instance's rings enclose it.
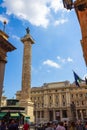
<path fill-rule="evenodd" d="M 27 34 L 21 38 L 24 44 L 24 54 L 23 54 L 23 68 L 22 68 L 22 99 L 30 98 L 30 88 L 31 88 L 31 49 L 34 40 L 29 34 L 29 29 L 26 29 Z"/>

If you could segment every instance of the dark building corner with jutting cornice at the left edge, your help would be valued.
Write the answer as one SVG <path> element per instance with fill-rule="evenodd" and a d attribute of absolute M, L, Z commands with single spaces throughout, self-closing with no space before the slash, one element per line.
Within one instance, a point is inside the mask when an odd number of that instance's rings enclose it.
<path fill-rule="evenodd" d="M 16 48 L 8 42 L 8 35 L 0 30 L 0 106 L 1 97 L 3 91 L 4 73 L 5 73 L 5 63 L 7 63 L 7 52 L 11 52 Z"/>

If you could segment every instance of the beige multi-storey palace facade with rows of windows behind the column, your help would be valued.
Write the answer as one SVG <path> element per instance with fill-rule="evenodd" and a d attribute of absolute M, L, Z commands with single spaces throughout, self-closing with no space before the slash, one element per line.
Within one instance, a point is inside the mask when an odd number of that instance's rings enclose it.
<path fill-rule="evenodd" d="M 45 83 L 31 88 L 36 123 L 53 120 L 69 121 L 73 118 L 72 102 L 75 104 L 76 119 L 87 119 L 87 86 L 76 87 L 69 81 Z"/>

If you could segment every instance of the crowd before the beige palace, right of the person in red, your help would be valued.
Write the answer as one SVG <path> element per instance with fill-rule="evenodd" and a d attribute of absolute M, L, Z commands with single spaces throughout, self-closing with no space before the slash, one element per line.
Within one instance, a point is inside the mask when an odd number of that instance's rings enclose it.
<path fill-rule="evenodd" d="M 77 122 L 59 122 L 58 124 L 50 123 L 43 124 L 37 130 L 87 130 L 87 122 L 82 124 L 81 121 Z"/>

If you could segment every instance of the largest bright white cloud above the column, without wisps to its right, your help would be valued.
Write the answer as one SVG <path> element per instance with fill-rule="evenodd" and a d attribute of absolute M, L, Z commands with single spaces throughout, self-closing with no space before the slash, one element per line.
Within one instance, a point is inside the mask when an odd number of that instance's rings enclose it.
<path fill-rule="evenodd" d="M 50 9 L 41 0 L 5 0 L 2 6 L 7 7 L 8 15 L 14 14 L 33 25 L 46 27 L 49 23 Z"/>

